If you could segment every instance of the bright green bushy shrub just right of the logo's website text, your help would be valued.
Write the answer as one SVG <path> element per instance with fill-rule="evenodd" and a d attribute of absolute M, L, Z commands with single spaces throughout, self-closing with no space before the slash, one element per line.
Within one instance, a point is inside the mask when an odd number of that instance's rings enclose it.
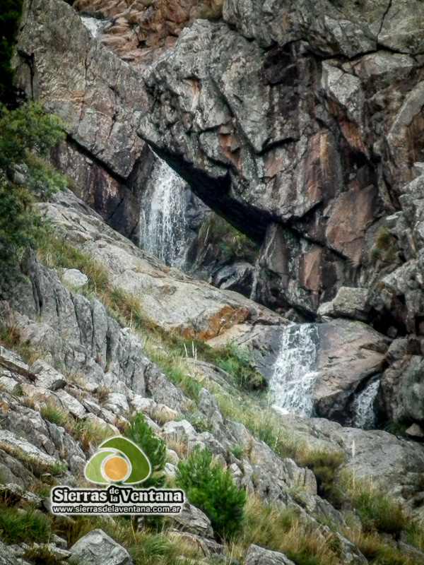
<path fill-rule="evenodd" d="M 220 539 L 240 531 L 245 521 L 246 493 L 237 487 L 228 470 L 212 464 L 208 450 L 196 448 L 187 460 L 179 461 L 176 482 L 189 501 L 208 516 Z"/>

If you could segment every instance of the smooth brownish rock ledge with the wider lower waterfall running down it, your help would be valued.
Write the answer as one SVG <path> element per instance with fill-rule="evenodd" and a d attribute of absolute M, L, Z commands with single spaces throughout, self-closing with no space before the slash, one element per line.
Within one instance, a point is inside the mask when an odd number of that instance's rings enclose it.
<path fill-rule="evenodd" d="M 387 367 L 390 340 L 360 321 L 235 326 L 232 339 L 255 352 L 271 403 L 283 413 L 351 424 L 355 398 Z M 219 347 L 220 338 L 208 342 Z M 418 401 L 418 399 L 417 399 Z"/>

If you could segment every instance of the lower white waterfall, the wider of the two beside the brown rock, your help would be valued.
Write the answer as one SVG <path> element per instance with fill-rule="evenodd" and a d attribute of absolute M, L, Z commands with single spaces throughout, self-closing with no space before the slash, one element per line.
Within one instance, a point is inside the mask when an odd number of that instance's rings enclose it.
<path fill-rule="evenodd" d="M 273 408 L 309 417 L 313 412 L 312 390 L 318 372 L 318 330 L 312 323 L 293 324 L 283 333 L 269 391 Z"/>

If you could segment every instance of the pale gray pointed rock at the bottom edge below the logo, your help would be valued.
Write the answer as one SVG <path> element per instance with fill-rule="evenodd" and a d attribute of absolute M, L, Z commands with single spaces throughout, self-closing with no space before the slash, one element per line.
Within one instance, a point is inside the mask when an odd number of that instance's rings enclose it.
<path fill-rule="evenodd" d="M 71 547 L 81 565 L 131 565 L 129 553 L 102 530 L 92 530 Z"/>

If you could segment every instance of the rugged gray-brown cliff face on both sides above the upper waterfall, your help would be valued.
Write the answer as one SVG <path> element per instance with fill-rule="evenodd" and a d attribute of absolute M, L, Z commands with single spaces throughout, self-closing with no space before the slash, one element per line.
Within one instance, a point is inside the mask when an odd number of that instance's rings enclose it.
<path fill-rule="evenodd" d="M 31 4 L 20 36 L 18 84 L 49 100 L 70 138 L 99 161 L 94 174 L 102 180 L 86 196 L 114 227 L 124 225 L 126 235 L 137 230 L 133 193 L 151 158 L 141 137 L 208 206 L 262 245 L 259 301 L 313 316 L 339 287 L 374 282 L 372 249 L 421 158 L 418 0 L 396 8 L 315 6 L 316 13 L 325 8 L 325 18 L 312 16 L 309 4 L 288 12 L 240 0 L 224 4 L 224 22 L 196 20 L 189 28 L 198 16 L 189 3 L 168 6 L 172 16 L 160 2 L 80 4 L 85 13 L 114 18 L 117 40 L 126 33 L 122 18 L 140 32 L 141 20 L 154 13 L 156 24 L 143 33 L 162 45 L 141 72 L 102 47 L 60 3 L 46 10 Z M 57 41 L 60 17 L 66 22 Z M 163 23 L 174 20 L 175 29 Z M 70 23 L 78 29 L 73 57 L 63 47 Z M 163 52 L 155 33 L 171 28 L 182 33 L 175 45 L 165 41 Z M 49 73 L 52 53 L 64 61 L 61 81 Z M 69 81 L 75 88 L 62 106 Z M 69 165 L 66 155 L 60 161 Z M 406 258 L 384 257 L 377 270 Z M 398 325 L 404 317 L 394 316 Z"/>

